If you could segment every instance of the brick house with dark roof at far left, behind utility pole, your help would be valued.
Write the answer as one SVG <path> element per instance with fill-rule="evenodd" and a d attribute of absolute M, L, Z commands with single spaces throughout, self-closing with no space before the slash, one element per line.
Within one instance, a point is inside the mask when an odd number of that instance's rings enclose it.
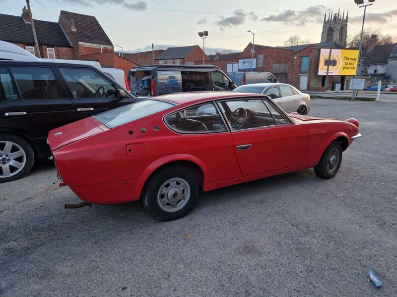
<path fill-rule="evenodd" d="M 60 24 L 34 20 L 37 41 L 42 58 L 73 59 L 73 45 Z M 32 25 L 26 7 L 21 16 L 0 14 L 0 40 L 13 43 L 38 55 L 35 48 Z"/>

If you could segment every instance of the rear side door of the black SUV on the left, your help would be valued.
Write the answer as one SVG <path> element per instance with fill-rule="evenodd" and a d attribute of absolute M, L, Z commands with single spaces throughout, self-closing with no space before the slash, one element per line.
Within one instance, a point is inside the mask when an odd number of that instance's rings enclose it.
<path fill-rule="evenodd" d="M 19 64 L 20 65 L 20 64 Z M 2 102 L 2 127 L 27 136 L 39 156 L 50 154 L 48 132 L 76 120 L 76 111 L 68 99 L 55 67 L 29 65 L 1 67 L 12 77 L 17 98 Z"/>

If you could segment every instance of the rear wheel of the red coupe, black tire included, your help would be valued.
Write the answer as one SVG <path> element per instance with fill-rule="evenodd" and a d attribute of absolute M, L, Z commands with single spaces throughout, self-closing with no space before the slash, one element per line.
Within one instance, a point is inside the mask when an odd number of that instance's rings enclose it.
<path fill-rule="evenodd" d="M 174 184 L 175 187 L 171 185 L 171 182 L 167 183 L 170 180 L 176 183 Z M 183 187 L 185 182 L 187 183 L 183 190 L 185 192 L 180 192 L 178 187 Z M 168 187 L 168 185 L 170 186 Z M 168 187 L 168 190 L 166 187 Z M 161 193 L 161 189 L 165 192 Z M 188 193 L 188 189 L 190 190 L 190 195 L 185 202 L 181 198 Z M 177 195 L 175 199 L 180 198 L 181 200 L 177 202 L 168 200 L 168 197 L 174 199 L 173 195 Z M 199 183 L 194 172 L 185 166 L 175 165 L 160 169 L 150 177 L 142 193 L 142 202 L 146 210 L 156 219 L 169 221 L 188 214 L 192 210 L 198 196 Z M 164 204 L 161 203 L 163 201 L 165 201 Z M 175 203 L 175 207 L 173 203 Z M 168 209 L 165 210 L 164 208 Z"/>

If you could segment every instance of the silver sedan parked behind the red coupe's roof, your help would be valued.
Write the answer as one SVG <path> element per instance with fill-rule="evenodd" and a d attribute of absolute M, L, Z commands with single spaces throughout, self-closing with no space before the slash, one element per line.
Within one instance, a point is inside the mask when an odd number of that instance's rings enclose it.
<path fill-rule="evenodd" d="M 287 84 L 251 84 L 237 87 L 234 92 L 265 94 L 284 111 L 306 115 L 310 110 L 310 95 Z"/>

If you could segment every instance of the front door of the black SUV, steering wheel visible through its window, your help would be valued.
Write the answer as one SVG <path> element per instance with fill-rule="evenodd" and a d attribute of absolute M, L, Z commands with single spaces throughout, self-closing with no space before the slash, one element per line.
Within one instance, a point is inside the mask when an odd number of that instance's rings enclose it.
<path fill-rule="evenodd" d="M 126 97 L 118 99 L 119 87 L 94 68 L 59 67 L 59 73 L 71 98 L 77 118 L 83 119 L 97 113 L 135 101 Z"/>

